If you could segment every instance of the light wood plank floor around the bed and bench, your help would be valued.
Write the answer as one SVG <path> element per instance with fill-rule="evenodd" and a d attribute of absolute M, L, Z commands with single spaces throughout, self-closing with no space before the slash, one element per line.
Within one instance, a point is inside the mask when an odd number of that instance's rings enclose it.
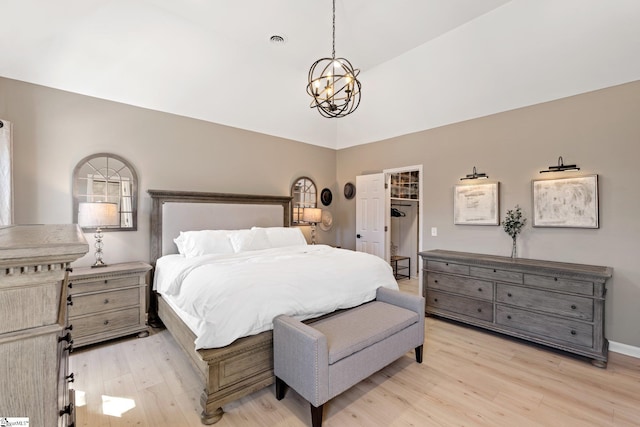
<path fill-rule="evenodd" d="M 409 353 L 329 401 L 323 425 L 640 425 L 640 359 L 609 353 L 600 369 L 430 317 L 425 329 L 422 364 Z M 201 425 L 196 374 L 166 330 L 76 350 L 70 367 L 78 426 Z M 274 386 L 224 410 L 216 427 L 311 425 L 308 403 L 291 389 L 278 401 Z"/>

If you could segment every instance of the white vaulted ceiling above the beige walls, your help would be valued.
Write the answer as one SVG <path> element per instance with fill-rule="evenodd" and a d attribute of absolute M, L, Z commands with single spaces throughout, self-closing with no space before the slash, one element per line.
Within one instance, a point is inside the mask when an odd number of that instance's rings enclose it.
<path fill-rule="evenodd" d="M 637 0 L 337 0 L 362 102 L 309 108 L 329 0 L 0 0 L 0 76 L 330 148 L 640 79 Z M 285 42 L 270 42 L 272 35 Z"/>

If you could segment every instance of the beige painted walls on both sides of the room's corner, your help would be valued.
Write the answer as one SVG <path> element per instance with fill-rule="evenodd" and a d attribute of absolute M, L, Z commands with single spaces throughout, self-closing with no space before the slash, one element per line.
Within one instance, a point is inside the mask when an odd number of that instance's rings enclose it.
<path fill-rule="evenodd" d="M 636 347 L 639 111 L 635 82 L 335 151 L 0 78 L 0 117 L 15 131 L 17 222 L 70 222 L 71 173 L 89 154 L 112 152 L 136 168 L 138 231 L 106 235 L 108 262 L 149 258 L 149 188 L 286 195 L 301 175 L 334 194 L 334 230 L 319 231 L 319 240 L 353 248 L 355 199 L 344 199 L 344 184 L 359 174 L 417 164 L 424 167 L 424 249 L 508 255 L 510 240 L 500 227 L 453 225 L 453 186 L 476 166 L 500 181 L 502 216 L 520 204 L 530 218 L 531 180 L 563 156 L 581 173 L 599 175 L 600 228 L 528 226 L 520 255 L 613 267 L 606 334 Z M 438 237 L 427 232 L 431 227 L 438 227 Z M 79 265 L 91 261 L 89 255 Z"/>

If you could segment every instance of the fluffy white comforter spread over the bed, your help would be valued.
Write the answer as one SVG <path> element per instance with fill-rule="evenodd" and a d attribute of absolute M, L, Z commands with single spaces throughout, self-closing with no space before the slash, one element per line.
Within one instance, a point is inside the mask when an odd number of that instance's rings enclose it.
<path fill-rule="evenodd" d="M 304 320 L 398 289 L 391 266 L 362 252 L 326 245 L 290 246 L 156 263 L 155 289 L 190 316 L 196 348 L 223 347 L 273 328 L 287 314 Z M 193 319 L 192 319 L 193 320 Z"/>

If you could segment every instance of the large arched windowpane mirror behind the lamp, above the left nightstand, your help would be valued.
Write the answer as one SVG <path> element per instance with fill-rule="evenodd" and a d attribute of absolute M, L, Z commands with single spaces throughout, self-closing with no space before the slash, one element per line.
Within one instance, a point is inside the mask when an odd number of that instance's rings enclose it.
<path fill-rule="evenodd" d="M 87 156 L 73 170 L 73 223 L 84 231 L 138 228 L 138 176 L 120 156 Z"/>

